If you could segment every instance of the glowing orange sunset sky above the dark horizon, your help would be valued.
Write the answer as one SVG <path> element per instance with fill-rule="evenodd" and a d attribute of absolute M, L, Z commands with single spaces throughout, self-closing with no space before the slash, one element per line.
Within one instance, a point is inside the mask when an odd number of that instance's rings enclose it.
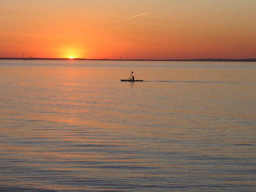
<path fill-rule="evenodd" d="M 255 10 L 256 0 L 0 0 L 0 57 L 256 58 Z"/>

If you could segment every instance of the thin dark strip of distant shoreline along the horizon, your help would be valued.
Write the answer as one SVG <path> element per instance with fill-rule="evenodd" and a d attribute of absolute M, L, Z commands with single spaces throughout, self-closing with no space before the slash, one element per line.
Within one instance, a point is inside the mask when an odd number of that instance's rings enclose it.
<path fill-rule="evenodd" d="M 251 59 L 85 59 L 85 58 L 10 58 L 2 57 L 0 60 L 107 60 L 107 61 L 218 61 L 218 62 L 256 62 L 256 58 Z"/>

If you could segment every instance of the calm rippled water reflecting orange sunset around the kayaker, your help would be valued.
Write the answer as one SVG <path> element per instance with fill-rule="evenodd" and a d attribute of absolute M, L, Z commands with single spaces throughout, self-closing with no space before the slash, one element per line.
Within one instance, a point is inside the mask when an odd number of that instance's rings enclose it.
<path fill-rule="evenodd" d="M 145 82 L 120 82 L 134 72 Z M 0 60 L 0 191 L 256 191 L 255 62 Z"/>

